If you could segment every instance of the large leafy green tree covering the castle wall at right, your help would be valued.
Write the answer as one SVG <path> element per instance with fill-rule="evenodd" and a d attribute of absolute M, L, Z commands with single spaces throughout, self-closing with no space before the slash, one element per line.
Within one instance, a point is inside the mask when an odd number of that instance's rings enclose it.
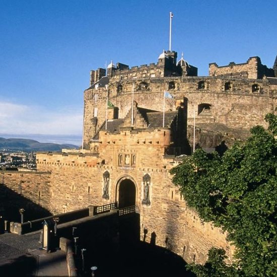
<path fill-rule="evenodd" d="M 277 116 L 265 119 L 268 131 L 253 127 L 245 143 L 236 143 L 222 157 L 197 150 L 171 170 L 173 183 L 200 218 L 228 231 L 237 249 L 234 268 L 241 269 L 236 274 L 246 276 L 277 272 Z"/>

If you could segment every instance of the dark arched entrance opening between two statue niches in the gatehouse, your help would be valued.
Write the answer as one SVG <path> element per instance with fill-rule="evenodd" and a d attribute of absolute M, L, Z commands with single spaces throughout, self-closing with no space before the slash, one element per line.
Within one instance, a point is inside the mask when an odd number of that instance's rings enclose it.
<path fill-rule="evenodd" d="M 122 178 L 118 183 L 118 207 L 128 207 L 135 205 L 136 187 L 129 178 Z"/>

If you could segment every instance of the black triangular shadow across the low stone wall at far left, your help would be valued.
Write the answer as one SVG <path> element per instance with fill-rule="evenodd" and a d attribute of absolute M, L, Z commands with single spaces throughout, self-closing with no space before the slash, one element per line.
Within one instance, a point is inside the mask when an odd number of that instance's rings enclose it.
<path fill-rule="evenodd" d="M 20 222 L 21 208 L 25 210 L 24 222 L 51 216 L 51 213 L 39 204 L 0 184 L 0 216 L 8 221 Z"/>

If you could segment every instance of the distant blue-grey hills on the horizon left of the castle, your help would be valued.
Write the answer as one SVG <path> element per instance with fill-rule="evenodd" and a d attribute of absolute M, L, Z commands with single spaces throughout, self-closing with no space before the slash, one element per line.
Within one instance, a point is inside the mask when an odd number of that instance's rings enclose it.
<path fill-rule="evenodd" d="M 20 150 L 20 151 L 60 151 L 62 148 L 78 149 L 79 147 L 71 144 L 40 143 L 26 138 L 3 138 L 0 137 L 0 150 Z"/>

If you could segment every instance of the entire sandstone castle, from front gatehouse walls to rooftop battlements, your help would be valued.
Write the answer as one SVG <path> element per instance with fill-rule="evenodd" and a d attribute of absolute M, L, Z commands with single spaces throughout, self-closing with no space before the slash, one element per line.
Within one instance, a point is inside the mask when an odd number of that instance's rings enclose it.
<path fill-rule="evenodd" d="M 155 234 L 157 245 L 187 262 L 205 262 L 213 246 L 232 259 L 226 233 L 186 205 L 169 170 L 191 153 L 194 117 L 198 146 L 231 145 L 236 134 L 265 124 L 276 96 L 277 58 L 273 69 L 259 57 L 211 63 L 207 77 L 175 51 L 161 53 L 157 64 L 111 62 L 107 71 L 91 71 L 82 149 L 38 153 L 36 172 L 2 172 L 1 183 L 54 214 L 135 205 L 142 239 Z"/>

